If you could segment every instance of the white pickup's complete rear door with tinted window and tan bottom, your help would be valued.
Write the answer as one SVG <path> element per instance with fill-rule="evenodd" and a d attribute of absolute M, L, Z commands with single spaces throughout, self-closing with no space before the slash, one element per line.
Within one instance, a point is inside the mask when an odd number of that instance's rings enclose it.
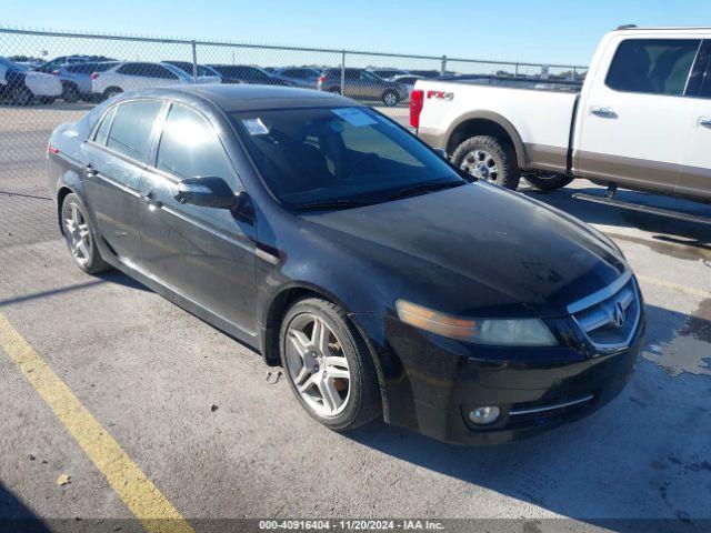
<path fill-rule="evenodd" d="M 672 192 L 697 103 L 684 97 L 700 39 L 613 39 L 581 95 L 574 170 Z"/>

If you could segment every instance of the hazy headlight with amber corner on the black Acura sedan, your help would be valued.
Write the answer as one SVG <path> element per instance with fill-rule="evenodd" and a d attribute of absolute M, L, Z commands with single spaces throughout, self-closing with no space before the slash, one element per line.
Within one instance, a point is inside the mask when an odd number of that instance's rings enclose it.
<path fill-rule="evenodd" d="M 554 346 L 558 341 L 540 319 L 464 319 L 398 300 L 402 322 L 438 335 L 499 346 Z"/>

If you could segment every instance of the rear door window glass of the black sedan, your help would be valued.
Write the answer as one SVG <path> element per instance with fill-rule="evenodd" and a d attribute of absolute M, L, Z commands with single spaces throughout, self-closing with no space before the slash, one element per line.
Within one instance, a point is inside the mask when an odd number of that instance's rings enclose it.
<path fill-rule="evenodd" d="M 161 102 L 136 101 L 118 105 L 107 147 L 137 161 L 144 161 L 150 151 L 153 123 Z"/>

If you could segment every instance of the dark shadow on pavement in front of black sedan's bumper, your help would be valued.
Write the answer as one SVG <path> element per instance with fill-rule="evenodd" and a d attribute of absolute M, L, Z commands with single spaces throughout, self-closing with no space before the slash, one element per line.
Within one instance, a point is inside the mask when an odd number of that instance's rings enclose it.
<path fill-rule="evenodd" d="M 685 361 L 684 342 L 703 343 L 697 349 L 707 371 L 709 361 L 702 359 L 711 355 L 711 345 L 699 335 L 711 332 L 711 315 L 655 306 L 648 314 L 654 338 L 648 338 L 635 375 L 585 419 L 491 447 L 445 444 L 382 423 L 348 436 L 403 462 L 614 531 L 673 530 L 700 519 L 709 525 L 711 371 L 693 374 L 688 362 L 669 368 L 648 351 L 652 344 L 673 363 L 675 354 Z M 471 515 L 508 516 L 501 505 L 488 514 L 478 502 L 481 492 L 472 489 L 453 484 L 448 493 L 459 499 L 463 516 L 468 509 Z"/>

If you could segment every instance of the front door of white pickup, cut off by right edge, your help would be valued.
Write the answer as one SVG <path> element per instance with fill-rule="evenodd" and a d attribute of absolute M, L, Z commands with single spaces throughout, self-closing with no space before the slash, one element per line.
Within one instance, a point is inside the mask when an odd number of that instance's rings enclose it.
<path fill-rule="evenodd" d="M 688 92 L 695 99 L 695 111 L 677 192 L 711 200 L 711 39 L 701 47 Z"/>

